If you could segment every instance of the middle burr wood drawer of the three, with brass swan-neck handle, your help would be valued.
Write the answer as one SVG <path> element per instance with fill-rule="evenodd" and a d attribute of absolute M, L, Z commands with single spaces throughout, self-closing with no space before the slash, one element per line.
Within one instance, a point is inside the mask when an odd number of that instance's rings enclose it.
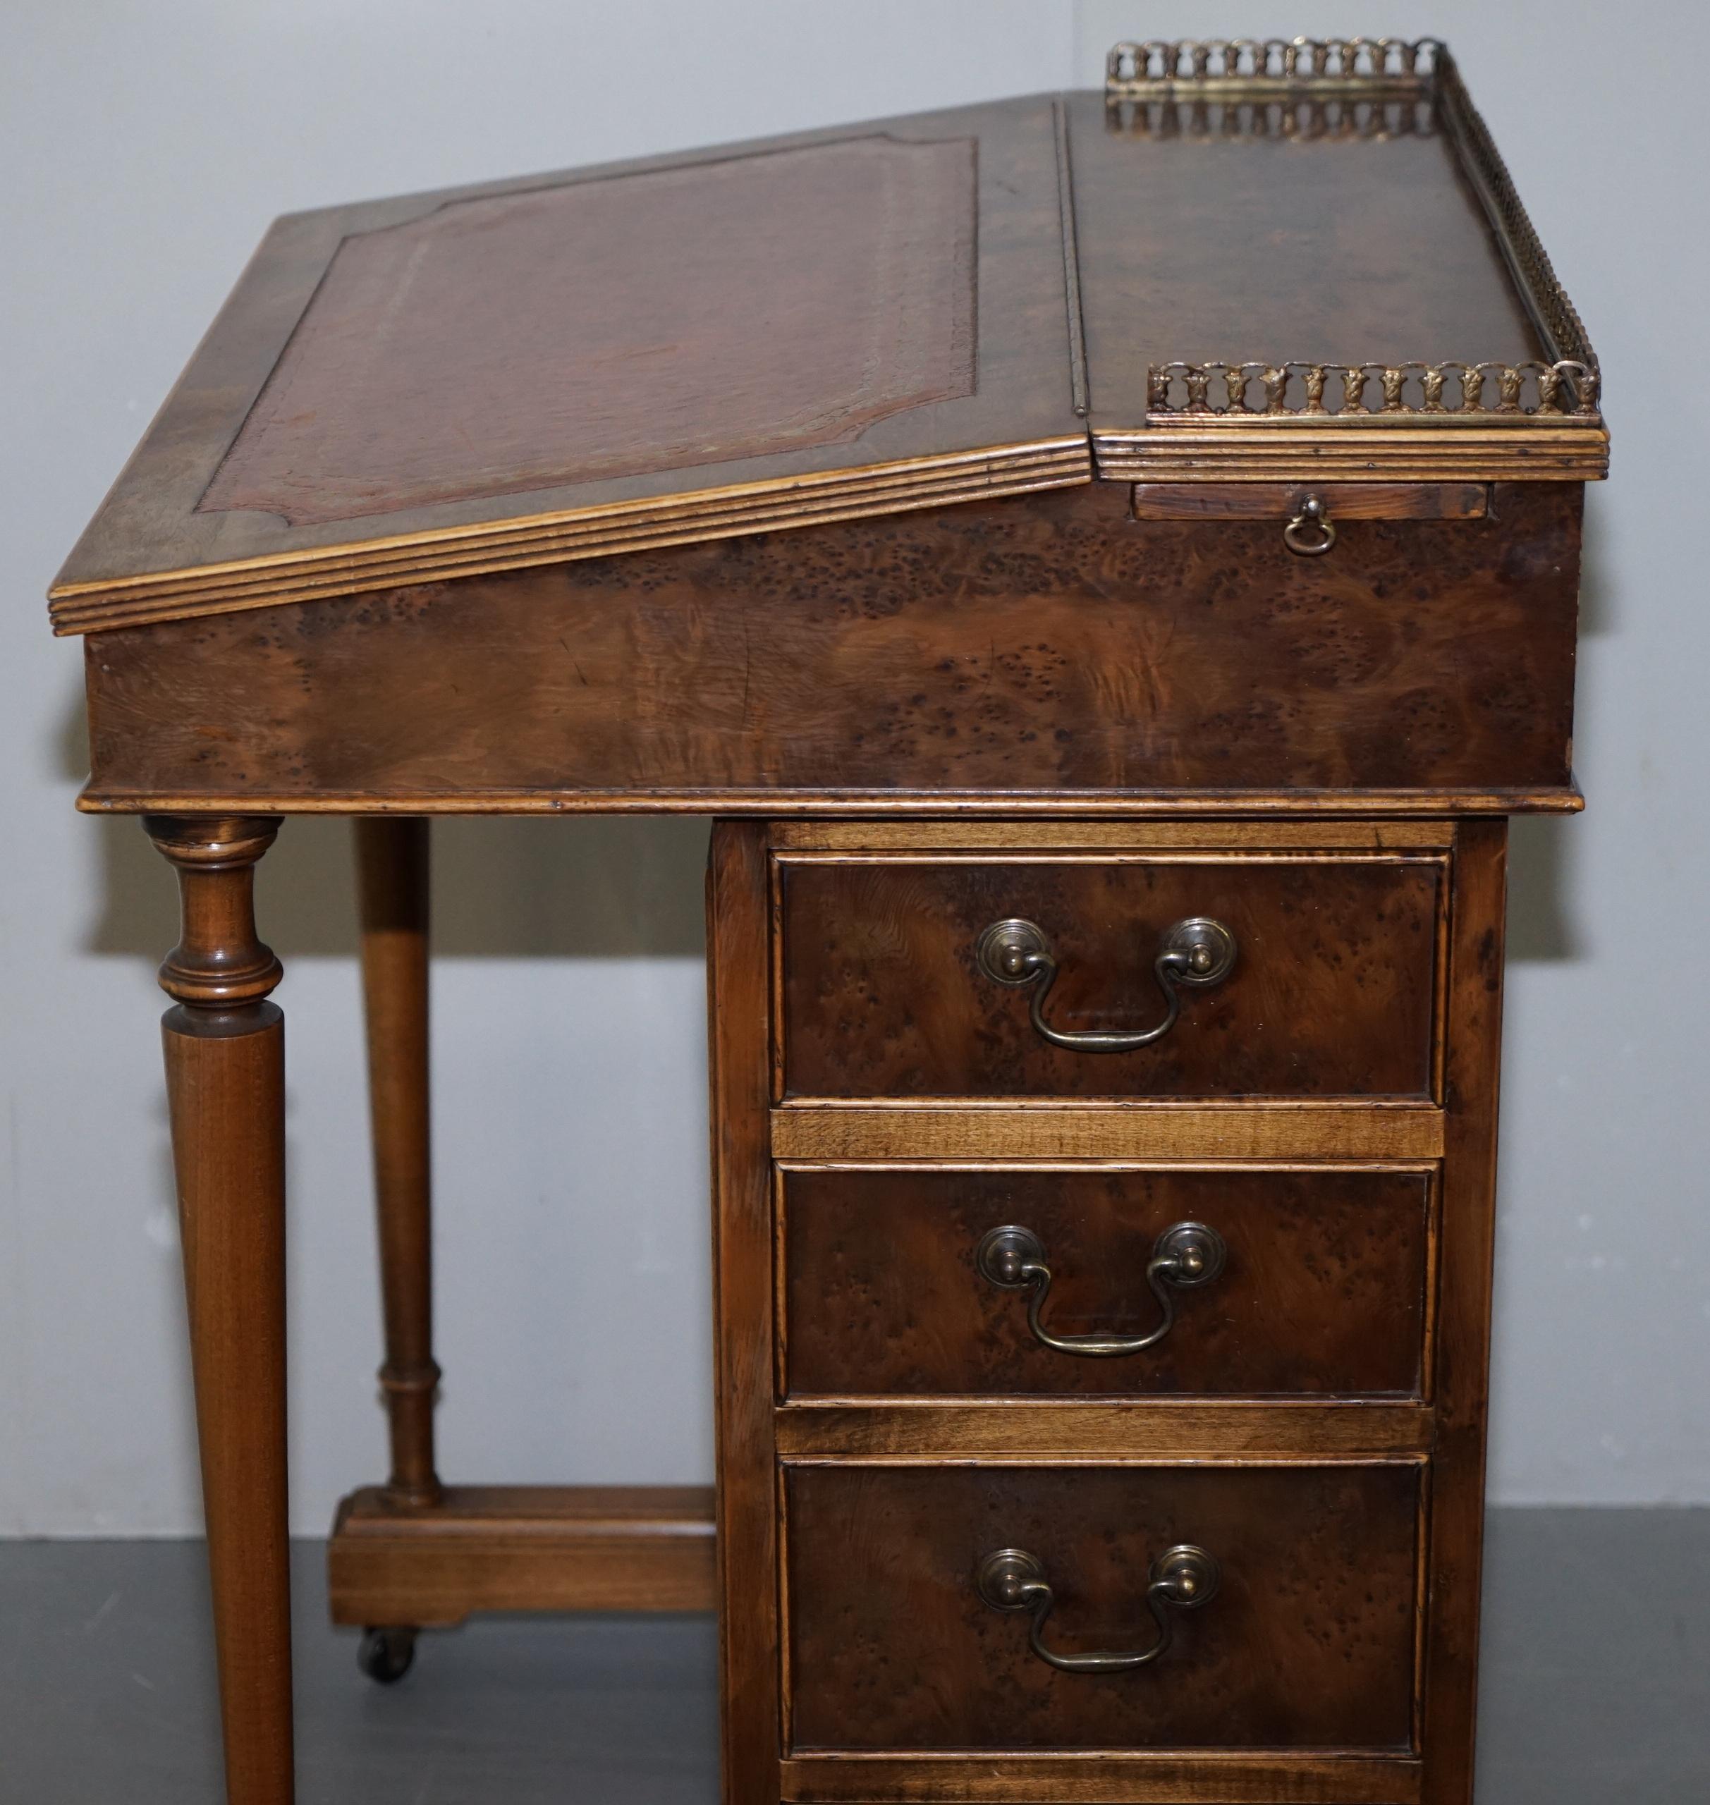
<path fill-rule="evenodd" d="M 1425 1170 L 793 1168 L 780 1186 L 795 1397 L 1421 1390 Z M 1018 1253 L 1044 1292 L 1006 1267 Z M 1029 1314 L 1058 1341 L 1150 1345 L 1053 1348 Z"/>

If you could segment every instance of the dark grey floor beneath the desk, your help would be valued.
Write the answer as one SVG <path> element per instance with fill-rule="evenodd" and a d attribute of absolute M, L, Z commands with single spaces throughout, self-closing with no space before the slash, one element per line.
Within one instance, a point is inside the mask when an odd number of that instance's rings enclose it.
<path fill-rule="evenodd" d="M 300 1543 L 302 1805 L 713 1805 L 706 1617 L 489 1619 L 381 1688 Z M 197 1543 L 0 1543 L 4 1805 L 217 1805 Z M 1710 1511 L 1493 1511 L 1479 1805 L 1710 1800 Z"/>

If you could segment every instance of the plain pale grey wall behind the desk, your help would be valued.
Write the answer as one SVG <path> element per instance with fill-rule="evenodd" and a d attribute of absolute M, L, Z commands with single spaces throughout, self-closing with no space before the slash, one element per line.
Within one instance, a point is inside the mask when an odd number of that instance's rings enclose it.
<path fill-rule="evenodd" d="M 152 966 L 172 883 L 70 810 L 79 659 L 42 592 L 265 220 L 289 208 L 1092 85 L 1118 36 L 1448 38 L 1607 372 L 1576 821 L 1520 823 L 1493 1486 L 1710 1500 L 1710 733 L 1696 560 L 1710 166 L 1697 7 L 865 0 L 13 0 L 0 83 L 11 576 L 0 630 L 0 1532 L 197 1525 Z M 1430 255 L 1421 245 L 1421 255 Z M 1647 375 L 1654 381 L 1647 392 Z M 1710 390 L 1710 384 L 1705 384 Z M 444 1467 L 711 1467 L 704 823 L 444 823 Z M 294 1518 L 381 1473 L 345 828 L 264 865 L 291 1043 Z M 159 868 L 157 868 L 159 866 Z M 648 1350 L 603 1352 L 648 1328 Z M 621 1374 L 621 1383 L 618 1375 Z"/>

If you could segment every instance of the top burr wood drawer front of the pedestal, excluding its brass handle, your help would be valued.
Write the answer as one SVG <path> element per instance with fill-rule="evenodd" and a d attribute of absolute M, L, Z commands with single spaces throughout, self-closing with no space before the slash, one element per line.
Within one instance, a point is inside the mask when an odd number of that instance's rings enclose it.
<path fill-rule="evenodd" d="M 1427 1097 L 1441 881 L 1432 857 L 785 861 L 785 1094 Z M 1179 921 L 1222 922 L 1235 967 L 1152 1045 L 1071 1051 L 977 964 L 1013 917 L 1056 958 L 1058 1031 L 1157 1023 Z"/>

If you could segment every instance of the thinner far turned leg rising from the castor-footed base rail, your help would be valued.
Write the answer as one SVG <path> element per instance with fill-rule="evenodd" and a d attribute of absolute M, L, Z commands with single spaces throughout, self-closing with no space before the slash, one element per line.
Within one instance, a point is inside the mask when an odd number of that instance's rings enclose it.
<path fill-rule="evenodd" d="M 433 1267 L 428 1132 L 428 823 L 356 823 L 368 1014 L 368 1105 L 395 1504 L 441 1500 L 433 1471 Z"/>

